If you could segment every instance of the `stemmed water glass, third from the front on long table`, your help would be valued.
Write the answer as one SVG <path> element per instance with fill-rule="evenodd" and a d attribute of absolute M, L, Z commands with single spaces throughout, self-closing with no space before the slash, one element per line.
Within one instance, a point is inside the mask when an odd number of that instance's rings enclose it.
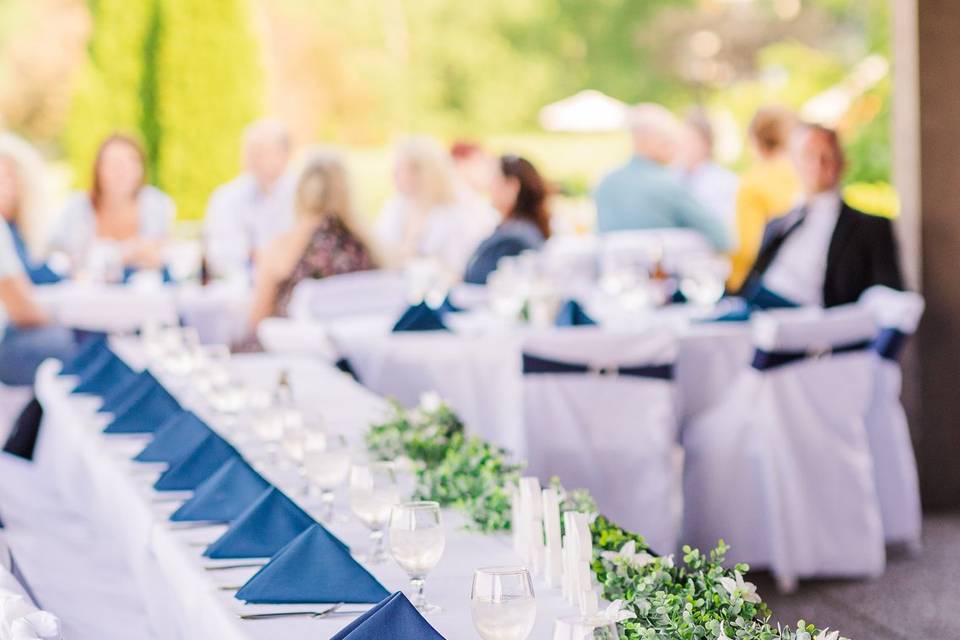
<path fill-rule="evenodd" d="M 398 502 L 400 489 L 393 464 L 372 462 L 350 469 L 350 508 L 370 529 L 371 549 L 362 559 L 371 564 L 386 559 L 383 530 L 390 519 L 390 509 Z"/>

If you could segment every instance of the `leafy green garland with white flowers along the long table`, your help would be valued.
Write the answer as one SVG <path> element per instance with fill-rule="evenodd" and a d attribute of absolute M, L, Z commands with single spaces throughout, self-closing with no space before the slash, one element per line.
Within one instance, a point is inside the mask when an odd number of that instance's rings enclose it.
<path fill-rule="evenodd" d="M 506 487 L 516 484 L 523 465 L 508 462 L 506 450 L 467 437 L 435 394 L 425 394 L 410 411 L 393 403 L 391 415 L 371 426 L 366 442 L 379 459 L 403 457 L 414 464 L 417 499 L 461 511 L 480 531 L 510 528 Z M 749 567 L 723 566 L 729 547 L 722 540 L 706 555 L 685 546 L 682 562 L 675 562 L 672 555 L 655 555 L 643 536 L 596 515 L 587 491 L 568 492 L 556 478 L 551 486 L 560 492 L 562 511 L 595 516 L 591 569 L 604 599 L 619 601 L 625 640 L 844 640 L 802 620 L 796 628 L 772 626 L 770 609 L 743 579 Z"/>

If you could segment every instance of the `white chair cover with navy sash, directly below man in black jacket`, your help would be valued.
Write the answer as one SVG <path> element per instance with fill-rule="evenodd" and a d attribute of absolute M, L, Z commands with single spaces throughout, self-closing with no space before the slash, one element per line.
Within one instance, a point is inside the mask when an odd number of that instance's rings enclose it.
<path fill-rule="evenodd" d="M 819 353 L 764 371 L 747 368 L 683 436 L 685 542 L 797 578 L 879 575 L 883 529 L 864 418 L 874 357 L 871 315 L 849 306 L 757 314 L 754 344 Z M 759 351 L 758 351 L 759 355 Z"/>

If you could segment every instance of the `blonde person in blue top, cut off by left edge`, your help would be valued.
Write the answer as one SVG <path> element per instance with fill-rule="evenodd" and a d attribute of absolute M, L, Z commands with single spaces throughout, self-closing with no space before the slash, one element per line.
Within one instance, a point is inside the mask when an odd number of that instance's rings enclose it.
<path fill-rule="evenodd" d="M 25 140 L 10 133 L 0 134 L 0 214 L 10 229 L 24 272 L 33 284 L 60 280 L 45 262 L 33 257 L 38 227 L 43 222 L 43 198 L 40 155 Z"/>

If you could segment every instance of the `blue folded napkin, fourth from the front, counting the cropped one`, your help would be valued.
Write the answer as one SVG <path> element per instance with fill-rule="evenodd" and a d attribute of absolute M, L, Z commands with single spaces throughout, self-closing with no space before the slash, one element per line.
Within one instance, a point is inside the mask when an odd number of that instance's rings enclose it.
<path fill-rule="evenodd" d="M 180 505 L 174 522 L 230 522 L 256 502 L 270 483 L 239 456 L 227 460 Z"/>

